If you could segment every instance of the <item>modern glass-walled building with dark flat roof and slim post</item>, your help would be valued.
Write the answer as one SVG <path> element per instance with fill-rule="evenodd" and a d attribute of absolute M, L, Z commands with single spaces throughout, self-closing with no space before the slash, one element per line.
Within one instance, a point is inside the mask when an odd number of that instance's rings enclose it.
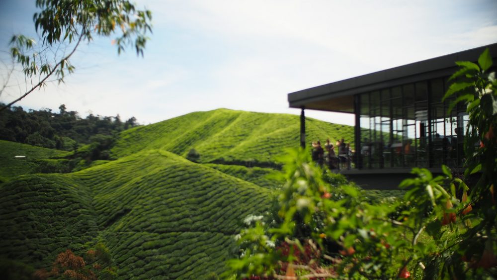
<path fill-rule="evenodd" d="M 305 146 L 306 109 L 351 113 L 353 169 L 343 171 L 351 179 L 371 185 L 369 177 L 385 180 L 389 174 L 398 178 L 387 187 L 396 187 L 412 167 L 437 173 L 445 164 L 457 171 L 464 162 L 468 115 L 462 103 L 448 111 L 457 96 L 442 97 L 458 69 L 455 62 L 476 61 L 486 48 L 497 64 L 496 43 L 289 93 L 290 107 L 302 109 L 301 144 Z"/>

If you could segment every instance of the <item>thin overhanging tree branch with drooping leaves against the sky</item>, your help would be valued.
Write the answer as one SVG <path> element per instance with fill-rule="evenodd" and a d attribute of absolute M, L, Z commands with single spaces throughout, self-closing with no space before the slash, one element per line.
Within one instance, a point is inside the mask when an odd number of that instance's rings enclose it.
<path fill-rule="evenodd" d="M 41 9 L 33 15 L 39 41 L 24 35 L 14 35 L 10 41 L 12 59 L 25 76 L 25 91 L 0 111 L 45 86 L 49 79 L 64 82 L 75 70 L 70 58 L 80 43 L 115 35 L 118 54 L 131 46 L 143 56 L 146 35 L 152 32 L 152 12 L 136 9 L 128 0 L 36 0 L 36 6 Z"/>

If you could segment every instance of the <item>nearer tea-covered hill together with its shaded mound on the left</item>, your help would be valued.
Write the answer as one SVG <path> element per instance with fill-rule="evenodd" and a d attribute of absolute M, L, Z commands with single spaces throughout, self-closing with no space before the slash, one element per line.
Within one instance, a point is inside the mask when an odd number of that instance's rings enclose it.
<path fill-rule="evenodd" d="M 0 192 L 0 257 L 48 267 L 63 249 L 102 240 L 123 279 L 221 273 L 242 219 L 271 200 L 267 188 L 162 150 L 22 176 Z"/>

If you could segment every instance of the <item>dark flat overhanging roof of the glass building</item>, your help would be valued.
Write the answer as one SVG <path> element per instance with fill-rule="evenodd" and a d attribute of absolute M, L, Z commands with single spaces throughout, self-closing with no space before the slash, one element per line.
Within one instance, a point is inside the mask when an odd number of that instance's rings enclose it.
<path fill-rule="evenodd" d="M 291 108 L 353 113 L 353 95 L 428 79 L 447 77 L 458 68 L 456 61 L 476 61 L 486 49 L 497 63 L 497 43 L 422 60 L 354 78 L 288 93 Z"/>

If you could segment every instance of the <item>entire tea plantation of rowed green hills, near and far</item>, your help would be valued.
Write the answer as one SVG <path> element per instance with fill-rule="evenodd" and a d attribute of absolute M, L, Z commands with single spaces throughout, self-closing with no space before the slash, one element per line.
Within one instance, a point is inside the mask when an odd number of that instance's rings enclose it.
<path fill-rule="evenodd" d="M 308 139 L 347 139 L 343 131 L 352 131 L 307 124 Z M 116 160 L 68 174 L 29 174 L 21 164 L 5 171 L 17 153 L 65 154 L 2 141 L 0 174 L 8 180 L 0 185 L 0 271 L 5 264 L 27 273 L 50 268 L 57 253 L 82 255 L 102 242 L 120 279 L 220 274 L 243 218 L 269 209 L 280 182 L 265 175 L 283 148 L 298 146 L 298 125 L 292 115 L 191 113 L 125 131 L 112 150 Z M 200 164 L 184 158 L 192 148 Z M 265 167 L 236 165 L 247 163 Z"/>

